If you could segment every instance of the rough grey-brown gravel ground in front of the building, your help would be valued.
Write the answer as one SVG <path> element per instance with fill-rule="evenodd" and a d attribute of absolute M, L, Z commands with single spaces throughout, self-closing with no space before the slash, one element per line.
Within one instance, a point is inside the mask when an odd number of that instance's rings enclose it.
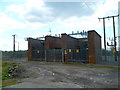
<path fill-rule="evenodd" d="M 18 61 L 22 83 L 5 88 L 118 88 L 118 70 L 53 62 Z"/>

